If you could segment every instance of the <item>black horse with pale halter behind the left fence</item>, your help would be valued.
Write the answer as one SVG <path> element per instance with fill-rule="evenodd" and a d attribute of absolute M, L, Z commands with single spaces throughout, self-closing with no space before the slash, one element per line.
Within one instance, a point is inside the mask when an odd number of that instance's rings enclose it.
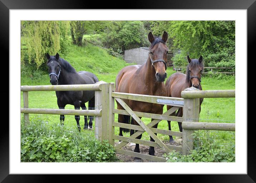
<path fill-rule="evenodd" d="M 49 68 L 50 83 L 52 85 L 79 85 L 79 84 L 94 84 L 99 79 L 91 72 L 75 71 L 70 63 L 57 53 L 55 56 L 46 54 L 47 66 Z M 57 103 L 60 109 L 64 109 L 67 104 L 73 105 L 75 109 L 86 110 L 85 102 L 88 102 L 88 108 L 94 108 L 95 97 L 94 91 L 56 91 Z M 89 116 L 89 127 L 87 116 L 84 116 L 84 129 L 92 129 L 92 116 Z M 64 124 L 65 116 L 60 115 L 60 123 Z M 77 127 L 80 131 L 80 116 L 75 116 Z"/>

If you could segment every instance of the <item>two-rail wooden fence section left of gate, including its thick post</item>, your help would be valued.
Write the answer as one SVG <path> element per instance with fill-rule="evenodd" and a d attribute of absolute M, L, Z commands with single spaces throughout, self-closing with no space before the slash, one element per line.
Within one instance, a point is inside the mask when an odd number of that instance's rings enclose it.
<path fill-rule="evenodd" d="M 108 119 L 108 83 L 99 81 L 95 84 L 84 85 L 41 85 L 41 86 L 21 86 L 23 92 L 24 108 L 20 109 L 24 113 L 24 124 L 29 123 L 29 114 L 48 114 L 48 115 L 72 115 L 72 116 L 95 116 L 95 138 L 103 142 L 108 138 L 107 121 Z M 30 91 L 95 91 L 95 109 L 43 109 L 29 108 Z"/>

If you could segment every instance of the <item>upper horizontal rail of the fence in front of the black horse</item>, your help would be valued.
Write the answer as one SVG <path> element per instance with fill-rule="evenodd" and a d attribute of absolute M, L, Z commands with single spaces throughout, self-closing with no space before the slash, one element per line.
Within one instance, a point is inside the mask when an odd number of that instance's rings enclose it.
<path fill-rule="evenodd" d="M 21 91 L 97 91 L 102 90 L 100 84 L 87 85 L 40 85 L 40 86 L 21 86 Z"/>

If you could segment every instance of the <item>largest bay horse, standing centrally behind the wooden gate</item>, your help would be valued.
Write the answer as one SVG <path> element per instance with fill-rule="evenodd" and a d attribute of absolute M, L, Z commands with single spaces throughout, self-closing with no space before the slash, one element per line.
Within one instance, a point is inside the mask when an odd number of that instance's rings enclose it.
<path fill-rule="evenodd" d="M 142 95 L 154 95 L 154 96 L 166 96 L 166 88 L 164 86 L 164 80 L 167 77 L 166 63 L 168 48 L 166 41 L 168 34 L 164 31 L 162 39 L 160 37 L 154 37 L 152 32 L 148 34 L 148 40 L 151 42 L 149 47 L 149 55 L 147 61 L 143 65 L 131 65 L 126 66 L 118 73 L 115 80 L 115 92 L 123 93 L 136 93 Z M 123 101 L 133 110 L 138 112 L 147 112 L 154 114 L 162 114 L 163 106 L 161 104 L 139 102 L 133 100 Z M 124 110 L 124 108 L 117 102 L 117 108 Z M 128 115 L 118 115 L 119 123 L 131 123 L 139 125 L 133 118 Z M 153 128 L 157 128 L 156 124 Z M 128 132 L 127 129 L 119 128 L 119 136 L 123 136 L 124 132 Z M 130 131 L 130 135 L 134 133 L 134 130 Z M 141 139 L 142 134 L 137 137 Z M 150 141 L 154 142 L 154 139 L 150 137 Z M 134 152 L 139 151 L 139 144 L 136 144 Z M 154 147 L 149 147 L 149 154 L 154 156 Z M 141 158 L 134 158 L 134 161 L 141 161 Z"/>

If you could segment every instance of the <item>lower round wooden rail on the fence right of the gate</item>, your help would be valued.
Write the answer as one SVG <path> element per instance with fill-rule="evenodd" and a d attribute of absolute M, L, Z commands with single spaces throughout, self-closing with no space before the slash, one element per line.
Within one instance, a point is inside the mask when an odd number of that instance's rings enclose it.
<path fill-rule="evenodd" d="M 183 129 L 204 129 L 220 131 L 236 131 L 235 123 L 204 123 L 204 122 L 186 122 L 182 123 Z"/>

